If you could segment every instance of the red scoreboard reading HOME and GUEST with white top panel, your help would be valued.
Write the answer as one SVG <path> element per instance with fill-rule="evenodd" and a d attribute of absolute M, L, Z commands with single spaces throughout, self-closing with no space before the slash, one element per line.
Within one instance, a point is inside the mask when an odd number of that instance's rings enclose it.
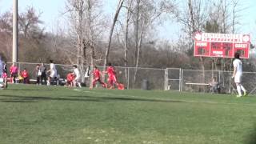
<path fill-rule="evenodd" d="M 234 58 L 240 53 L 241 58 L 249 58 L 250 34 L 194 34 L 194 56 Z"/>

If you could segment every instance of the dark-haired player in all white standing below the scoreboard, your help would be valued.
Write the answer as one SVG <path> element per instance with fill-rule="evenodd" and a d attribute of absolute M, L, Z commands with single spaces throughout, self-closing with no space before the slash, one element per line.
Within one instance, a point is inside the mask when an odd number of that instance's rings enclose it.
<path fill-rule="evenodd" d="M 234 73 L 232 78 L 234 78 L 234 82 L 237 86 L 238 90 L 238 95 L 237 97 L 240 98 L 242 97 L 242 91 L 243 95 L 246 96 L 246 89 L 242 86 L 241 81 L 242 81 L 242 61 L 239 58 L 239 53 L 234 54 L 234 61 L 233 61 L 233 66 L 234 66 Z M 242 90 L 242 91 L 241 91 Z"/>

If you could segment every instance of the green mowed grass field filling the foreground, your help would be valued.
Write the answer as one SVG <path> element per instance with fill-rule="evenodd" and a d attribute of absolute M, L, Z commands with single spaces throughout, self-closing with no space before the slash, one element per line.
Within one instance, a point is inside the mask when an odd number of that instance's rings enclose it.
<path fill-rule="evenodd" d="M 254 143 L 256 97 L 11 85 L 1 144 Z"/>

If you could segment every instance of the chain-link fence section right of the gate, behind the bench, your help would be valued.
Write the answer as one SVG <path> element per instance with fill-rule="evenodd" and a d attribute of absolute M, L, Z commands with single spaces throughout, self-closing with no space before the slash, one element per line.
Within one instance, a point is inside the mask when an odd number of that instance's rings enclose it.
<path fill-rule="evenodd" d="M 183 91 L 196 91 L 196 92 L 209 92 L 210 86 L 203 85 L 212 81 L 212 78 L 220 84 L 221 93 L 230 94 L 236 90 L 234 79 L 232 79 L 233 71 L 221 70 L 182 70 L 182 90 Z M 242 75 L 242 85 L 249 92 L 254 90 L 256 86 L 256 73 L 244 72 Z M 256 92 L 256 91 L 255 91 Z"/>

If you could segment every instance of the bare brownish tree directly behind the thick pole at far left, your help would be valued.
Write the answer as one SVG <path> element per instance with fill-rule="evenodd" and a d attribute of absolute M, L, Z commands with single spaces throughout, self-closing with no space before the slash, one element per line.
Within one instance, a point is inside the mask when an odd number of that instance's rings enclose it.
<path fill-rule="evenodd" d="M 46 34 L 44 28 L 41 27 L 43 22 L 40 20 L 40 14 L 37 14 L 33 7 L 29 7 L 26 11 L 18 15 L 19 24 L 19 61 L 20 62 L 38 62 L 46 60 Z M 12 13 L 0 15 L 0 51 L 10 60 L 11 55 L 11 36 L 12 36 Z M 28 55 L 30 55 L 28 57 Z"/>

